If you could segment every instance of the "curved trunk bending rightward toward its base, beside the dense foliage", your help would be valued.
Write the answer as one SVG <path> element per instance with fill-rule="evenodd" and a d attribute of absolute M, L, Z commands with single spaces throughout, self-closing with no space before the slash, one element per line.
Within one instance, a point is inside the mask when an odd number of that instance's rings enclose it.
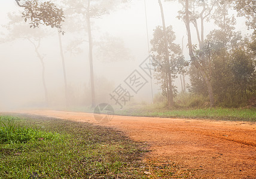
<path fill-rule="evenodd" d="M 185 1 L 185 24 L 187 28 L 187 34 L 188 34 L 188 49 L 189 49 L 189 55 L 191 58 L 192 64 L 199 70 L 201 75 L 203 76 L 203 79 L 205 79 L 206 86 L 208 88 L 208 94 L 209 99 L 211 103 L 211 107 L 214 107 L 214 92 L 212 91 L 212 84 L 211 80 L 208 77 L 207 73 L 203 70 L 199 62 L 197 61 L 196 57 L 193 53 L 193 47 L 192 47 L 192 41 L 191 41 L 191 31 L 190 31 L 190 18 L 189 18 L 189 11 L 188 11 L 188 0 Z"/>

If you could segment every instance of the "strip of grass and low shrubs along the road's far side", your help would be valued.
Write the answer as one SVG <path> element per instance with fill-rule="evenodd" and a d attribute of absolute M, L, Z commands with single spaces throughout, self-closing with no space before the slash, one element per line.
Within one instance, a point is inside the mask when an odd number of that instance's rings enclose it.
<path fill-rule="evenodd" d="M 215 119 L 229 121 L 256 122 L 255 101 L 240 104 L 241 107 L 227 108 L 221 104 L 217 107 L 209 107 L 207 98 L 202 95 L 178 94 L 172 108 L 167 106 L 164 97 L 155 95 L 154 104 L 132 103 L 123 110 L 116 108 L 116 115 L 147 116 L 160 118 L 190 118 L 190 119 Z"/>

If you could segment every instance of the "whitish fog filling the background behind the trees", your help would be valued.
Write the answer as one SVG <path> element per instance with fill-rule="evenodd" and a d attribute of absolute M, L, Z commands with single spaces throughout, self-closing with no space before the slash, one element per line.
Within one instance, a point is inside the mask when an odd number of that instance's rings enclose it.
<path fill-rule="evenodd" d="M 1 44 L 0 44 L 0 110 L 17 109 L 66 109 L 65 105 L 65 85 L 63 81 L 62 58 L 60 57 L 59 39 L 57 30 L 50 27 L 40 26 L 30 29 L 29 24 L 23 21 L 23 26 L 16 29 L 14 39 L 8 37 L 5 25 L 10 23 L 8 13 L 21 16 L 22 8 L 17 7 L 14 0 L 1 0 Z M 176 44 L 182 43 L 184 36 L 184 46 L 187 44 L 187 35 L 182 21 L 178 20 L 178 10 L 181 5 L 175 2 L 163 2 L 166 25 L 172 25 L 176 34 Z M 149 40 L 153 38 L 153 29 L 161 26 L 161 14 L 157 1 L 147 1 L 148 35 Z M 68 19 L 66 20 L 68 22 Z M 82 22 L 81 22 L 82 23 Z M 151 80 L 147 74 L 143 73 L 139 65 L 148 57 L 147 28 L 145 24 L 144 1 L 132 1 L 127 7 L 118 8 L 101 18 L 92 18 L 93 42 L 93 67 L 95 75 L 95 96 L 96 104 L 115 103 L 111 100 L 110 93 L 123 85 L 127 88 L 124 80 L 134 71 L 138 70 L 148 81 L 136 94 L 133 95 L 130 103 L 152 103 Z M 10 24 L 9 24 L 10 25 Z M 74 25 L 74 24 L 73 24 Z M 81 39 L 88 39 L 86 33 L 86 23 L 84 32 L 72 32 L 68 30 L 68 23 L 63 24 L 66 32 L 62 36 L 63 51 L 65 56 L 66 77 L 68 82 L 68 109 L 82 110 L 91 104 L 90 91 L 90 64 L 89 64 L 89 44 L 83 42 L 77 48 L 70 51 L 72 44 Z M 78 24 L 75 24 L 78 26 Z M 206 26 L 206 35 L 212 30 L 212 24 Z M 239 29 L 245 29 L 245 24 L 237 21 Z M 42 64 L 36 55 L 35 47 L 26 38 L 26 33 L 41 33 L 44 30 L 46 35 L 42 36 L 39 54 L 42 55 L 45 66 L 45 84 L 48 91 L 48 105 L 45 104 L 44 87 L 42 84 Z M 8 37 L 8 38 L 7 38 Z M 102 42 L 105 38 L 106 46 L 108 40 L 114 39 L 112 43 L 114 49 L 106 51 Z M 195 39 L 196 37 L 194 37 Z M 75 40 L 75 41 L 74 41 Z M 31 38 L 35 44 L 34 37 Z M 115 46 L 116 45 L 116 46 Z M 109 46 L 111 47 L 111 46 Z M 113 53 L 111 52 L 113 51 Z M 79 53 L 75 53 L 75 52 Z M 120 51 L 120 54 L 117 52 Z M 112 53 L 112 54 L 111 54 Z M 184 47 L 184 56 L 189 60 L 188 50 Z M 179 75 L 178 75 L 179 77 Z M 189 83 L 188 77 L 186 82 Z M 179 78 L 175 80 L 178 91 L 181 91 Z M 161 92 L 156 84 L 156 79 L 152 80 L 153 95 Z M 127 102 L 129 103 L 129 102 Z"/>

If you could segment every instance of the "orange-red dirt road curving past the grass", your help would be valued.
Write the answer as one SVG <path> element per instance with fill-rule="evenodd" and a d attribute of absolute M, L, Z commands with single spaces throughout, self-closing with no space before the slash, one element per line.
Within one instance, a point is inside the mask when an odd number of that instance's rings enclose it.
<path fill-rule="evenodd" d="M 79 122 L 97 122 L 93 114 L 49 110 L 22 111 Z M 195 169 L 196 178 L 256 178 L 256 124 L 114 116 L 108 124 L 132 140 L 150 144 L 147 158 L 178 162 Z"/>

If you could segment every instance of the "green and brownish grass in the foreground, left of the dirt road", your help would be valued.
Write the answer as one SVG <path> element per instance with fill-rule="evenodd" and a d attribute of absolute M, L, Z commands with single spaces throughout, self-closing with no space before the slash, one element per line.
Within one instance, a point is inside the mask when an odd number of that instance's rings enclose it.
<path fill-rule="evenodd" d="M 173 165 L 160 177 L 157 164 L 142 162 L 148 146 L 111 128 L 39 116 L 0 121 L 0 178 L 188 177 Z"/>

